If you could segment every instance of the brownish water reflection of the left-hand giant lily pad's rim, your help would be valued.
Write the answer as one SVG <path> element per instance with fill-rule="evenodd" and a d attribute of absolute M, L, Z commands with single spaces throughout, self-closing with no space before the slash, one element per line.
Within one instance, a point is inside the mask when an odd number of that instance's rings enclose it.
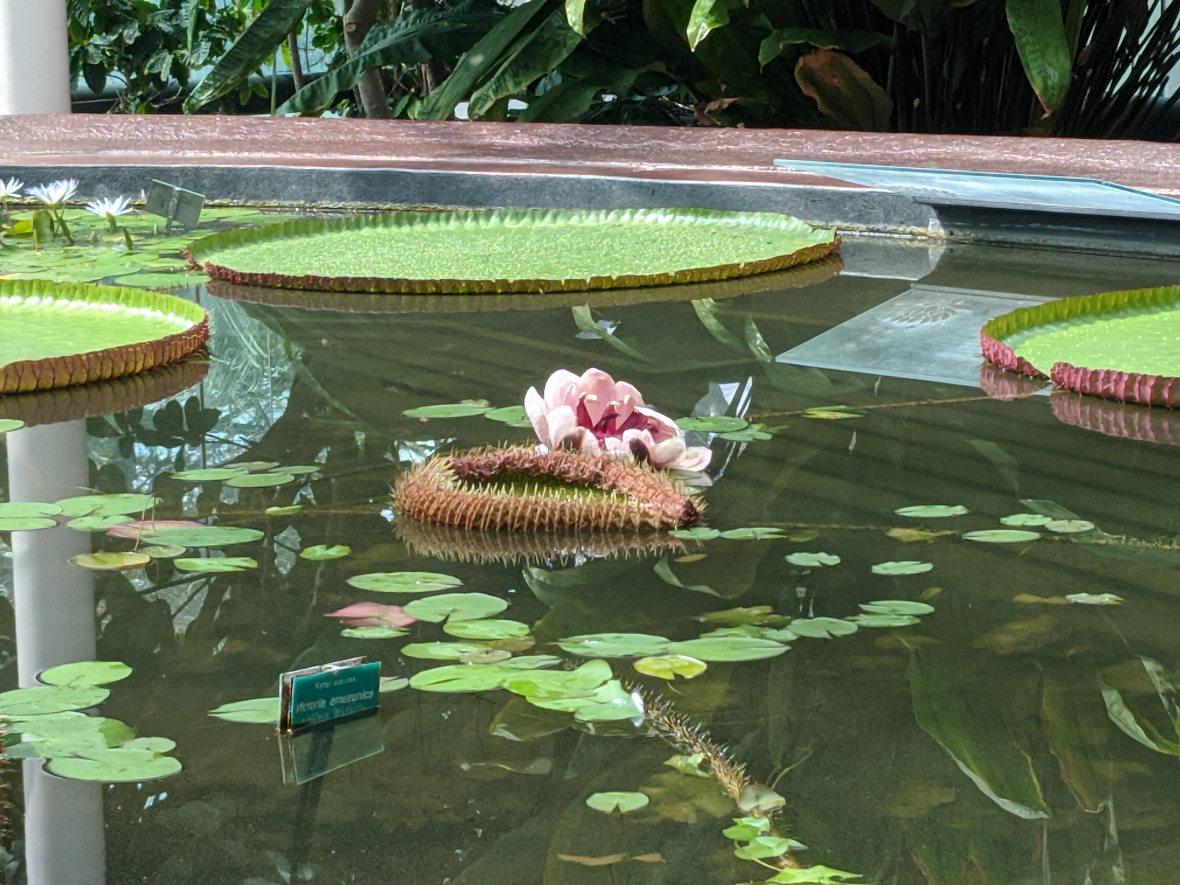
<path fill-rule="evenodd" d="M 198 349 L 190 354 L 194 359 L 126 378 L 0 396 L 0 418 L 17 418 L 26 427 L 35 427 L 39 424 L 118 414 L 158 402 L 192 387 L 205 376 L 209 361 L 201 359 L 203 353 Z"/>

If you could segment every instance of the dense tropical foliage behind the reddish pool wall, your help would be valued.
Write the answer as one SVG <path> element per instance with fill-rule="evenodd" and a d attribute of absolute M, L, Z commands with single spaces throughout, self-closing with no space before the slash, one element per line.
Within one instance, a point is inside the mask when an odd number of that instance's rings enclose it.
<path fill-rule="evenodd" d="M 70 0 L 116 110 L 1175 138 L 1180 0 Z M 304 74 L 314 54 L 316 73 Z M 294 93 L 280 101 L 276 72 Z M 290 92 L 290 90 L 288 90 Z M 516 99 L 516 100 L 513 100 Z M 257 99 L 255 99 L 257 100 Z M 464 104 L 466 103 L 466 104 Z M 510 104 L 511 103 L 511 104 Z"/>

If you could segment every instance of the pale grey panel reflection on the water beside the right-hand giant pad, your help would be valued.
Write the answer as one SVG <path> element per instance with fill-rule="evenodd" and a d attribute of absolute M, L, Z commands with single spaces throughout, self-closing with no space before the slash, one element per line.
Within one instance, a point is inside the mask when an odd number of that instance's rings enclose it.
<path fill-rule="evenodd" d="M 983 323 L 1042 301 L 1049 299 L 918 283 L 775 360 L 977 387 Z"/>

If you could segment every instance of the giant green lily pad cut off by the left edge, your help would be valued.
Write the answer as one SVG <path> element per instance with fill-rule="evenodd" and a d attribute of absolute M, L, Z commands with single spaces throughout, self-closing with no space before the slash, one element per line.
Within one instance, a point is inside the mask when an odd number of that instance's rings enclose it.
<path fill-rule="evenodd" d="M 208 337 L 204 308 L 113 286 L 0 280 L 0 394 L 163 366 Z"/>

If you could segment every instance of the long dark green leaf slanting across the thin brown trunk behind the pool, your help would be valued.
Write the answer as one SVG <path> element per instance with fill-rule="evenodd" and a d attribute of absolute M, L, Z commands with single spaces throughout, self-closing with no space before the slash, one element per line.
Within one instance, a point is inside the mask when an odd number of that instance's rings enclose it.
<path fill-rule="evenodd" d="M 393 21 L 374 26 L 355 55 L 312 80 L 282 104 L 277 113 L 321 111 L 335 100 L 336 93 L 352 88 L 361 74 L 372 67 L 415 65 L 434 58 L 454 58 L 471 48 L 503 18 L 504 13 L 496 7 L 477 8 L 471 4 L 404 8 Z"/>

